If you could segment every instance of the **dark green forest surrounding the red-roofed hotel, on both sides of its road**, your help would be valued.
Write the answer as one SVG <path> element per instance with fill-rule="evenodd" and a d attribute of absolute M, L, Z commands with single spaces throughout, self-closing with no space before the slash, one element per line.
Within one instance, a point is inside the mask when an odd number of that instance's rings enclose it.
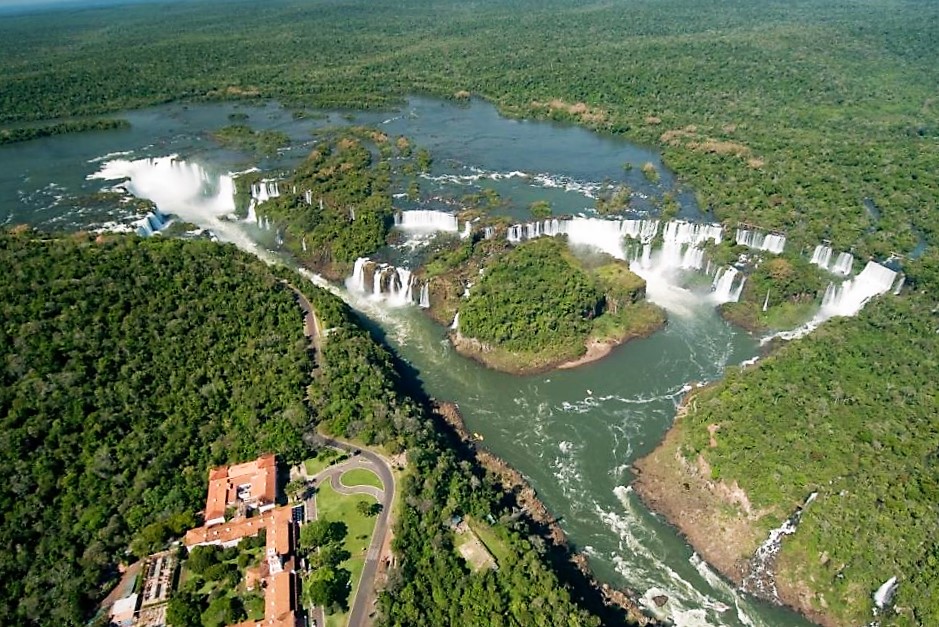
<path fill-rule="evenodd" d="M 517 517 L 493 527 L 506 567 L 469 574 L 448 520 L 501 519 L 504 496 L 335 296 L 303 287 L 330 329 L 311 380 L 300 277 L 231 246 L 21 229 L 0 258 L 3 624 L 84 624 L 128 544 L 192 524 L 207 468 L 298 461 L 317 425 L 408 452 L 385 624 L 598 624 Z"/>

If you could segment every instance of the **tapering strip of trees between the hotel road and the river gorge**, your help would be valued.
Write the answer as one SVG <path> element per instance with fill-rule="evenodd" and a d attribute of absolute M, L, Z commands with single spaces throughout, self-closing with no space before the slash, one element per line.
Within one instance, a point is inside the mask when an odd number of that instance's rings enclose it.
<path fill-rule="evenodd" d="M 553 627 L 561 616 L 566 625 L 598 625 L 580 604 L 602 605 L 582 596 L 588 594 L 583 587 L 577 588 L 576 601 L 572 598 L 572 584 L 548 567 L 553 558 L 531 523 L 508 515 L 512 502 L 503 500 L 494 478 L 461 460 L 446 436 L 429 427 L 426 410 L 406 394 L 408 384 L 386 349 L 370 340 L 342 301 L 314 288 L 305 293 L 321 323 L 332 329 L 311 390 L 319 425 L 329 433 L 383 444 L 392 452 L 408 451 L 410 472 L 398 484 L 402 496 L 394 529 L 399 568 L 379 597 L 382 623 L 404 627 L 503 620 Z M 505 538 L 504 568 L 470 576 L 453 550 L 448 521 L 456 513 L 477 519 L 506 514 L 496 525 Z"/>

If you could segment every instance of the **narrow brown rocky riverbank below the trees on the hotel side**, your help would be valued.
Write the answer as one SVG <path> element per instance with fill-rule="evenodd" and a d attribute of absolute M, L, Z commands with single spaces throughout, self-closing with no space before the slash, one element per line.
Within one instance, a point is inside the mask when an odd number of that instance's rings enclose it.
<path fill-rule="evenodd" d="M 522 512 L 534 523 L 536 529 L 543 530 L 540 536 L 546 544 L 552 547 L 553 552 L 559 553 L 564 559 L 565 564 L 562 566 L 573 567 L 574 572 L 578 574 L 578 580 L 570 582 L 572 585 L 586 585 L 590 592 L 599 595 L 605 607 L 617 613 L 625 614 L 625 617 L 633 624 L 655 624 L 652 619 L 642 613 L 639 606 L 627 592 L 618 590 L 609 584 L 600 583 L 594 577 L 586 556 L 571 551 L 567 536 L 558 524 L 557 519 L 538 498 L 535 489 L 512 466 L 486 449 L 480 448 L 476 439 L 466 430 L 463 417 L 456 404 L 437 402 L 433 407 L 433 415 L 453 430 L 461 444 L 472 453 L 476 463 L 498 479 L 503 490 L 511 495 Z"/>

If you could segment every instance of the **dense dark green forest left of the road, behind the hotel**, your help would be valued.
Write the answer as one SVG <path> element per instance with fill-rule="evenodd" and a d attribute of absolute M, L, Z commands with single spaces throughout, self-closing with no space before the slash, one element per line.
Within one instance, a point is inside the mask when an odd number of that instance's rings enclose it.
<path fill-rule="evenodd" d="M 131 540 L 201 509 L 207 468 L 306 456 L 302 318 L 263 263 L 209 242 L 21 230 L 0 264 L 0 537 L 20 547 L 0 623 L 83 624 Z"/>

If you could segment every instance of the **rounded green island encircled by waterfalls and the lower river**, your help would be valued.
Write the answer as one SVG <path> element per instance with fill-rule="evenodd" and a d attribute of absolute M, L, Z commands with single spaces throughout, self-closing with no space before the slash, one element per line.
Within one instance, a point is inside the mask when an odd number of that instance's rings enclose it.
<path fill-rule="evenodd" d="M 466 246 L 463 244 L 461 246 Z M 588 343 L 620 343 L 661 327 L 645 282 L 610 257 L 580 260 L 563 239 L 526 242 L 486 265 L 460 305 L 459 350 L 509 372 L 550 368 Z"/>

